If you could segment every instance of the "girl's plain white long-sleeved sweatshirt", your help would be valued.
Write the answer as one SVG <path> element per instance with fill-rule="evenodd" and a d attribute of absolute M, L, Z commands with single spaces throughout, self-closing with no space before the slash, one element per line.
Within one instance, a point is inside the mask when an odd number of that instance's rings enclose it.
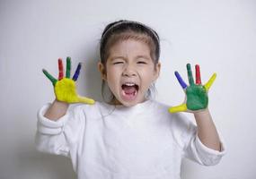
<path fill-rule="evenodd" d="M 196 125 L 168 106 L 147 100 L 134 107 L 96 102 L 50 121 L 38 113 L 37 148 L 70 157 L 78 179 L 179 179 L 181 158 L 216 165 L 225 154 L 199 141 Z"/>

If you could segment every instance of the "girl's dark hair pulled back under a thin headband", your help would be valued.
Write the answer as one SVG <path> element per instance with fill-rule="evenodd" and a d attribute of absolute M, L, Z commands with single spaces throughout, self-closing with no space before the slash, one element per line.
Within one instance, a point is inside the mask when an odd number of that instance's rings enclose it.
<path fill-rule="evenodd" d="M 160 57 L 160 39 L 156 31 L 138 21 L 120 20 L 111 22 L 102 32 L 102 38 L 100 42 L 100 56 L 101 62 L 105 69 L 106 62 L 110 53 L 110 47 L 119 42 L 119 40 L 125 40 L 128 38 L 135 38 L 137 40 L 146 42 L 146 44 L 148 44 L 150 47 L 150 55 L 154 61 L 154 67 L 156 64 L 158 64 Z M 102 98 L 106 101 L 104 95 L 105 87 L 105 81 L 102 81 Z M 110 99 L 107 101 L 112 101 L 115 99 L 115 97 L 111 91 L 109 92 Z M 152 97 L 154 93 L 155 88 L 154 84 L 152 84 L 150 89 L 147 91 L 146 97 Z"/>

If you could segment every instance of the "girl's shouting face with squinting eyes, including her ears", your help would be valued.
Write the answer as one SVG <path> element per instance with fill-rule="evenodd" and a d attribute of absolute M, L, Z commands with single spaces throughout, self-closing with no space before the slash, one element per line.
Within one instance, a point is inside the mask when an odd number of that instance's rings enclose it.
<path fill-rule="evenodd" d="M 154 66 L 155 65 L 155 66 Z M 110 47 L 106 69 L 99 64 L 102 77 L 119 105 L 131 107 L 145 101 L 146 92 L 160 71 L 154 64 L 146 43 L 128 39 Z"/>

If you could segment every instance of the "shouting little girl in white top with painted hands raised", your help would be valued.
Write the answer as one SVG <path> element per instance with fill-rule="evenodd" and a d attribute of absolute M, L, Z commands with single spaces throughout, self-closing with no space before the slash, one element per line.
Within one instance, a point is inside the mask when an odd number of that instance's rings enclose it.
<path fill-rule="evenodd" d="M 69 57 L 66 77 L 61 59 L 58 80 L 43 71 L 56 99 L 38 113 L 40 151 L 71 158 L 79 179 L 178 179 L 181 158 L 204 166 L 220 161 L 225 148 L 207 108 L 215 75 L 201 85 L 197 65 L 194 83 L 187 64 L 187 85 L 175 72 L 186 98 L 181 106 L 168 107 L 151 98 L 161 68 L 154 30 L 137 21 L 110 23 L 103 30 L 100 53 L 102 84 L 112 95 L 107 102 L 76 94 L 81 64 L 70 79 Z M 68 109 L 71 103 L 86 104 Z M 177 113 L 182 111 L 192 113 L 197 126 Z"/>

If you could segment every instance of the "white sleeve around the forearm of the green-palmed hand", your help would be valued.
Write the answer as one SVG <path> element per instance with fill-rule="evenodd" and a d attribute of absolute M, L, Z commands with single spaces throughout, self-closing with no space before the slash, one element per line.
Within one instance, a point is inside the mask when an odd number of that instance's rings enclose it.
<path fill-rule="evenodd" d="M 176 141 L 181 146 L 185 158 L 190 158 L 203 166 L 213 166 L 225 155 L 225 144 L 221 135 L 221 151 L 209 149 L 199 140 L 197 126 L 185 115 L 177 114 L 173 124 L 176 126 Z"/>

